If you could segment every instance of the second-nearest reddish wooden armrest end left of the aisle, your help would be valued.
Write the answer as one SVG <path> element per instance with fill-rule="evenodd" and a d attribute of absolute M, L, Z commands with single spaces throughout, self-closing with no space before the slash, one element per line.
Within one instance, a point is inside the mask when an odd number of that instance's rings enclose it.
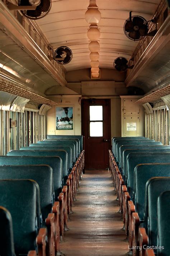
<path fill-rule="evenodd" d="M 38 246 L 38 256 L 46 256 L 46 235 L 47 230 L 46 228 L 39 229 L 36 243 Z"/>

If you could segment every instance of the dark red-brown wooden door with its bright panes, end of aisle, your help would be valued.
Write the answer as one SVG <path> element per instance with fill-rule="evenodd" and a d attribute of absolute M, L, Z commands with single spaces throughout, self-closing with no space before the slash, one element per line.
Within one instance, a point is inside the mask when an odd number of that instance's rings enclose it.
<path fill-rule="evenodd" d="M 110 99 L 82 100 L 85 169 L 108 169 L 111 149 Z"/>

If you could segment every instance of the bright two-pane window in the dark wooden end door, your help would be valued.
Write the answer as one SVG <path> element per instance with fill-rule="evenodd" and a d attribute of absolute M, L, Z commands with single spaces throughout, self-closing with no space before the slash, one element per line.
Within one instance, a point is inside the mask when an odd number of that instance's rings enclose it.
<path fill-rule="evenodd" d="M 103 106 L 90 106 L 90 137 L 103 137 Z"/>

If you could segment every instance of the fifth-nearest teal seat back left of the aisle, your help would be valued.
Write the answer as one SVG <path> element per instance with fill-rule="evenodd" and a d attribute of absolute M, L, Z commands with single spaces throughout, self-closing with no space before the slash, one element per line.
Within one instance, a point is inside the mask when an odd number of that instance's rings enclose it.
<path fill-rule="evenodd" d="M 66 184 L 66 180 L 68 177 L 68 154 L 65 150 L 55 150 L 55 151 L 11 150 L 6 155 L 9 155 L 9 156 L 60 156 L 60 158 L 62 159 L 63 182 L 64 184 Z"/>

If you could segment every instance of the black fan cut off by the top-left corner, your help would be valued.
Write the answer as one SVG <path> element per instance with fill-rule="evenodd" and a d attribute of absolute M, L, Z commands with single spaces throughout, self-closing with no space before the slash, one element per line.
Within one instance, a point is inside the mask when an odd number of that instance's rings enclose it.
<path fill-rule="evenodd" d="M 26 4 L 25 0 L 20 0 L 19 5 L 30 5 Z M 29 19 L 41 19 L 45 17 L 51 9 L 51 0 L 41 0 L 41 3 L 36 7 L 35 10 L 21 10 L 23 15 Z"/>

